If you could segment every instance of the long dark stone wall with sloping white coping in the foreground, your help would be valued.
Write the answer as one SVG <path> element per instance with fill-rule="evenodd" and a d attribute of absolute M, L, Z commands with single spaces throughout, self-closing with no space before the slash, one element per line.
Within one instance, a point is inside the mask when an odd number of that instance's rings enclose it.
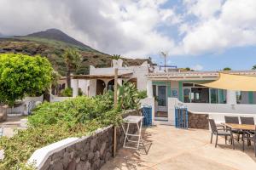
<path fill-rule="evenodd" d="M 127 115 L 137 115 L 127 112 Z M 130 126 L 136 133 L 137 126 Z M 124 143 L 125 133 L 117 127 L 117 150 Z M 97 170 L 113 157 L 113 126 L 97 131 L 95 134 L 79 139 L 77 142 L 51 154 L 40 170 Z"/>

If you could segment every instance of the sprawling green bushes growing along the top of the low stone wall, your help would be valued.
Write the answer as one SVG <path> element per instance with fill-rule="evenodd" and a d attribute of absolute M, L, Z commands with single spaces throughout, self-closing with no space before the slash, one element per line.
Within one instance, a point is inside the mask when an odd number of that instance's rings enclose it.
<path fill-rule="evenodd" d="M 80 137 L 97 128 L 122 122 L 120 111 L 137 108 L 137 90 L 126 84 L 119 87 L 118 107 L 113 109 L 113 92 L 94 98 L 80 96 L 62 102 L 45 102 L 28 117 L 29 127 L 14 137 L 0 139 L 4 159 L 0 169 L 31 170 L 26 161 L 38 148 L 68 137 Z"/>

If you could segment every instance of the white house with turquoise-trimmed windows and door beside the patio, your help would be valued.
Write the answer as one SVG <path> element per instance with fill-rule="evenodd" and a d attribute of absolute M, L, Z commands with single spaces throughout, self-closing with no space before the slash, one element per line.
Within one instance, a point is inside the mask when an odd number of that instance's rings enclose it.
<path fill-rule="evenodd" d="M 228 71 L 227 73 L 256 77 L 256 71 Z M 174 124 L 174 108 L 177 105 L 183 105 L 194 113 L 211 113 L 217 122 L 223 121 L 220 119 L 224 119 L 223 115 L 227 114 L 256 116 L 255 92 L 207 88 L 201 85 L 217 80 L 218 75 L 218 71 L 148 73 L 148 99 L 143 103 L 152 106 L 153 121 L 161 124 Z"/>

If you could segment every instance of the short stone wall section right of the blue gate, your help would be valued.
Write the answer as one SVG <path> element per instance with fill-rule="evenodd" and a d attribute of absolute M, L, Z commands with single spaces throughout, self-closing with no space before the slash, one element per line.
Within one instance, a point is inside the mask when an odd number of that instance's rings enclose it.
<path fill-rule="evenodd" d="M 194 114 L 189 112 L 189 128 L 209 129 L 208 114 Z"/>

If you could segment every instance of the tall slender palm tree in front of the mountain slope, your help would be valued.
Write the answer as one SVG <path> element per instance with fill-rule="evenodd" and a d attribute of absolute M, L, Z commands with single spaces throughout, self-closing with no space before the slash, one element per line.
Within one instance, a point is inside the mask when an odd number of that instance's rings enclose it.
<path fill-rule="evenodd" d="M 64 60 L 67 67 L 67 88 L 71 88 L 71 73 L 79 68 L 81 55 L 74 48 L 67 48 L 64 53 Z"/>

